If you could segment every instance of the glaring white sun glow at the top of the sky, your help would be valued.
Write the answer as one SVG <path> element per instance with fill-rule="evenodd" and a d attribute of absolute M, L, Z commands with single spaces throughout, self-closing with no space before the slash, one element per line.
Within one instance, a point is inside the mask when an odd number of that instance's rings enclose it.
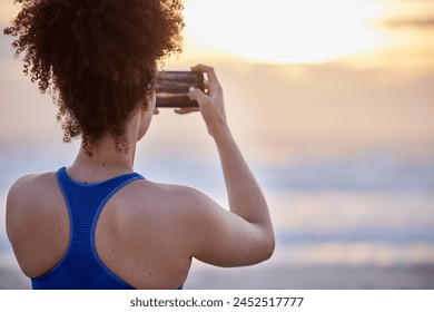
<path fill-rule="evenodd" d="M 250 60 L 323 62 L 383 45 L 374 23 L 388 9 L 366 0 L 187 0 L 186 35 Z"/>

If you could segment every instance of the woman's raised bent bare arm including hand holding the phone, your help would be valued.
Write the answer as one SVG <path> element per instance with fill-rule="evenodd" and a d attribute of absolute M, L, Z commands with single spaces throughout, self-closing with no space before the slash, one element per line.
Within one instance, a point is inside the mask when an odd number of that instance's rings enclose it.
<path fill-rule="evenodd" d="M 178 114 L 200 110 L 220 156 L 230 213 L 206 197 L 193 196 L 188 207 L 194 209 L 196 231 L 189 243 L 191 255 L 221 266 L 258 263 L 272 256 L 274 231 L 264 194 L 245 162 L 227 126 L 223 90 L 213 68 L 198 65 L 191 68 L 208 78 L 208 95 L 199 89 L 188 96 L 199 108 L 178 109 Z"/>

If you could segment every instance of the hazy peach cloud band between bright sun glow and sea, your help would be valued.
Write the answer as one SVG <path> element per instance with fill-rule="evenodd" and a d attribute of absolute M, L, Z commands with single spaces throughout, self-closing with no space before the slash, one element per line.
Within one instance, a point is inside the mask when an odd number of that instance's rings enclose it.
<path fill-rule="evenodd" d="M 416 149 L 434 142 L 432 71 L 342 64 L 211 65 L 225 89 L 231 129 L 257 163 L 287 164 L 304 154 L 334 157 L 346 148 Z M 60 142 L 57 107 L 22 75 L 22 62 L 2 60 L 0 68 L 0 142 Z M 181 149 L 214 157 L 200 115 L 161 111 L 141 146 L 156 157 Z"/>

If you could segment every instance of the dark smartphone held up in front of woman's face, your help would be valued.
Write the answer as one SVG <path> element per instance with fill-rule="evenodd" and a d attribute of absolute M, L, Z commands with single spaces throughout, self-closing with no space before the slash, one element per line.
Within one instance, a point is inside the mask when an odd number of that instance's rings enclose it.
<path fill-rule="evenodd" d="M 197 71 L 159 71 L 155 89 L 158 108 L 199 107 L 196 100 L 190 100 L 187 94 L 190 87 L 205 92 L 204 74 Z"/>

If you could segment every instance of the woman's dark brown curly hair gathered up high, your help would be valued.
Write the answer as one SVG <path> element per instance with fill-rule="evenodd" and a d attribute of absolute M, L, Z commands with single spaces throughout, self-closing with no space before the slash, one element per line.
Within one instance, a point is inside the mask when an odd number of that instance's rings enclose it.
<path fill-rule="evenodd" d="M 24 74 L 59 106 L 63 140 L 83 147 L 105 134 L 122 150 L 126 121 L 148 105 L 157 62 L 181 51 L 181 0 L 16 0 L 4 35 L 24 53 Z"/>

